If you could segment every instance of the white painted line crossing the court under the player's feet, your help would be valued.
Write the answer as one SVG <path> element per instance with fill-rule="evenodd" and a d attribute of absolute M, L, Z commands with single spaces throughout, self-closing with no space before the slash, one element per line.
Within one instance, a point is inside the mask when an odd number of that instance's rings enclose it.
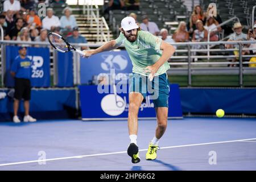
<path fill-rule="evenodd" d="M 190 147 L 190 146 L 203 146 L 207 144 L 218 144 L 218 143 L 231 143 L 231 142 L 243 142 L 247 140 L 256 140 L 256 138 L 248 138 L 248 139 L 240 139 L 240 140 L 228 140 L 228 141 L 223 141 L 223 142 L 209 142 L 209 143 L 197 143 L 197 144 L 185 144 L 181 146 L 169 146 L 169 147 L 161 147 L 161 149 L 166 149 L 166 148 L 179 148 L 179 147 Z M 147 151 L 147 149 L 142 149 L 139 151 Z M 42 163 L 46 161 L 52 161 L 52 160 L 63 160 L 63 159 L 81 159 L 81 158 L 88 158 L 92 156 L 101 156 L 101 155 L 113 155 L 113 154 L 124 154 L 127 151 L 122 151 L 122 152 L 109 152 L 109 153 L 102 153 L 102 154 L 92 154 L 92 155 L 80 155 L 80 156 L 71 156 L 71 157 L 66 157 L 66 158 L 53 158 L 53 159 L 44 159 L 44 160 L 29 160 L 25 162 L 16 162 L 16 163 L 6 163 L 6 164 L 0 164 L 1 166 L 11 166 L 11 165 L 16 165 L 16 164 L 27 164 L 27 163 Z"/>

